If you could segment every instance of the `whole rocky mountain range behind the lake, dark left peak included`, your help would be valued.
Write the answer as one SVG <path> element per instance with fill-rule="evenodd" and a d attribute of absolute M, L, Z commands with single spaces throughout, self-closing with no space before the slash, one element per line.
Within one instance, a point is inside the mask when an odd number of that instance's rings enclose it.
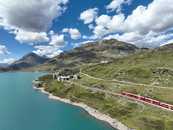
<path fill-rule="evenodd" d="M 47 59 L 30 53 L 11 64 L 7 70 L 45 71 L 62 68 L 79 68 L 85 64 L 109 63 L 140 51 L 133 44 L 115 39 L 90 42 Z M 3 68 L 4 69 L 4 68 Z"/>

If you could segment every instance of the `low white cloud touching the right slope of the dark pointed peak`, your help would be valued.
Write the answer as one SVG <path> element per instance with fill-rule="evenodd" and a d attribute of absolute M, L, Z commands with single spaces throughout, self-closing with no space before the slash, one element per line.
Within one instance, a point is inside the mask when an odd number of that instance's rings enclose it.
<path fill-rule="evenodd" d="M 33 52 L 40 56 L 47 56 L 49 58 L 55 57 L 62 53 L 63 51 L 59 49 L 59 47 L 55 46 L 35 46 L 36 50 Z"/>

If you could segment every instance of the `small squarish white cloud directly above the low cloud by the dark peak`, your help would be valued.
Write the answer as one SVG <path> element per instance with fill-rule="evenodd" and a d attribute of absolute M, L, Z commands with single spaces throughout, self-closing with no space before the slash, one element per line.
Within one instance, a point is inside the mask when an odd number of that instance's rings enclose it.
<path fill-rule="evenodd" d="M 64 35 L 58 35 L 58 34 L 53 34 L 51 36 L 51 41 L 49 43 L 49 45 L 52 46 L 63 46 L 65 43 L 64 41 Z"/>

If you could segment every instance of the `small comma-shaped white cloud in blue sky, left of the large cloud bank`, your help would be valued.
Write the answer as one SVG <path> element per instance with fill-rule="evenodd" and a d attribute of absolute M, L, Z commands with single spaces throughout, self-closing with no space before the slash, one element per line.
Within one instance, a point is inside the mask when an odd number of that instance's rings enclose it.
<path fill-rule="evenodd" d="M 69 33 L 70 34 L 70 37 L 73 39 L 73 40 L 77 40 L 79 38 L 81 38 L 81 33 L 78 29 L 76 28 L 64 28 L 62 30 L 62 32 L 64 33 Z"/>

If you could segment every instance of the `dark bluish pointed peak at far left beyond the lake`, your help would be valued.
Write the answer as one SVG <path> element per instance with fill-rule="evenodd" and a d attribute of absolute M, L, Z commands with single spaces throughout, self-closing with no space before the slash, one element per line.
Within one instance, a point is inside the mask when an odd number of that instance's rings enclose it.
<path fill-rule="evenodd" d="M 35 53 L 29 53 L 25 56 L 23 56 L 21 59 L 15 61 L 8 67 L 1 67 L 0 70 L 22 70 L 22 69 L 27 69 L 30 67 L 34 67 L 40 64 L 45 63 L 48 60 L 48 58 L 38 56 Z"/>

